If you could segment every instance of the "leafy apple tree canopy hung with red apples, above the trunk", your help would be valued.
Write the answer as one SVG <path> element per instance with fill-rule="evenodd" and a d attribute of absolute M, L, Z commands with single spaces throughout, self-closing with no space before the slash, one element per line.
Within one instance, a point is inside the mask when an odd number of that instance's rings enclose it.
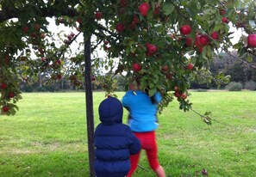
<path fill-rule="evenodd" d="M 75 31 L 56 34 L 49 18 Z M 236 44 L 232 27 L 241 33 Z M 195 79 L 228 82 L 228 76 L 209 72 L 219 52 L 237 50 L 243 64 L 256 68 L 250 64 L 256 47 L 251 0 L 2 0 L 0 32 L 0 108 L 7 115 L 18 110 L 19 83 L 39 73 L 78 87 L 90 85 L 93 75 L 108 95 L 115 95 L 115 75 L 126 78 L 126 88 L 139 78 L 149 95 L 163 96 L 161 112 L 174 98 L 180 109 L 192 109 L 188 88 Z M 84 53 L 72 53 L 79 35 Z M 106 56 L 98 57 L 100 51 Z M 207 114 L 203 120 L 209 123 Z"/>

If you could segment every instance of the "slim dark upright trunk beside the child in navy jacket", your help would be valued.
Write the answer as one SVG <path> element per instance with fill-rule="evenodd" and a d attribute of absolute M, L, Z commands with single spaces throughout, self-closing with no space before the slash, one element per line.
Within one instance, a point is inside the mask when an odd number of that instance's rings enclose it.
<path fill-rule="evenodd" d="M 86 121 L 87 121 L 87 137 L 89 151 L 89 166 L 91 176 L 95 176 L 94 163 L 94 119 L 93 119 L 93 100 L 91 86 L 91 37 L 84 39 L 84 69 L 85 69 L 85 101 L 86 101 Z"/>

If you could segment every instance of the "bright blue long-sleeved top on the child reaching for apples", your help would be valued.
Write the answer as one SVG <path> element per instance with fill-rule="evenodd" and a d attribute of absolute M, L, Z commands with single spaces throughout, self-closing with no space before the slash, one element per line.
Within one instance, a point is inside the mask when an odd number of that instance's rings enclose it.
<path fill-rule="evenodd" d="M 141 90 L 128 90 L 122 97 L 122 105 L 128 108 L 130 113 L 128 125 L 132 131 L 147 132 L 158 128 L 157 106 L 162 97 L 157 92 L 154 98 L 156 103 L 153 104 L 150 97 Z"/>

